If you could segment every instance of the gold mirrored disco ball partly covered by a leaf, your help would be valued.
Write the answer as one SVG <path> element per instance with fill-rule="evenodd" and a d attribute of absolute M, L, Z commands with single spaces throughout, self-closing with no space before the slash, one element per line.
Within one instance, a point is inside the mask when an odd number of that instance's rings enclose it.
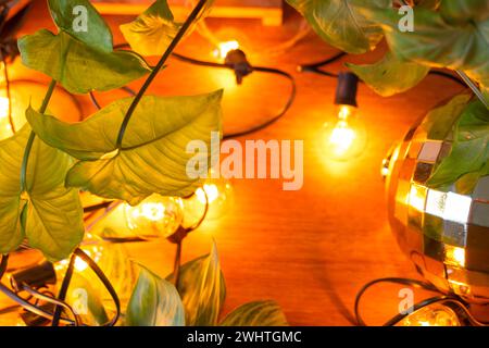
<path fill-rule="evenodd" d="M 489 176 L 478 179 L 472 195 L 426 186 L 452 146 L 453 127 L 439 132 L 440 122 L 452 121 L 438 119 L 417 122 L 384 161 L 389 222 L 401 249 L 428 282 L 466 301 L 486 303 Z"/>

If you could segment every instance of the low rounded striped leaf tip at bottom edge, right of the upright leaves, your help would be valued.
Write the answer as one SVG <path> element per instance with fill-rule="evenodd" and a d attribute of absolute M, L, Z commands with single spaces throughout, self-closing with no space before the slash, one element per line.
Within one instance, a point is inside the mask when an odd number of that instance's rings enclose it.
<path fill-rule="evenodd" d="M 238 307 L 221 326 L 288 326 L 280 307 L 274 301 L 256 301 Z"/>

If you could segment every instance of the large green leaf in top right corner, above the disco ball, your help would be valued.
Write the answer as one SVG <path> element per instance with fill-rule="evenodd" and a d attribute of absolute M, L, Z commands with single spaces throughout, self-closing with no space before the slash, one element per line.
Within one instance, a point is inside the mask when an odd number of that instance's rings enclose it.
<path fill-rule="evenodd" d="M 443 1 L 442 4 L 451 1 Z M 414 32 L 402 33 L 398 28 L 400 17 L 396 11 L 369 7 L 359 7 L 359 11 L 383 25 L 391 52 L 400 59 L 466 71 L 487 92 L 489 18 L 454 24 L 446 21 L 441 12 L 415 8 Z"/>

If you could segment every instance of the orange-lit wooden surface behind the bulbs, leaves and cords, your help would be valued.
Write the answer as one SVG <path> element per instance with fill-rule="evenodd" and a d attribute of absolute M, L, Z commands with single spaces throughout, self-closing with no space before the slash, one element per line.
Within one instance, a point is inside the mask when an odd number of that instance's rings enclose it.
<path fill-rule="evenodd" d="M 38 1 L 25 33 L 52 27 Z M 128 17 L 111 17 L 115 41 L 122 38 L 117 24 Z M 292 37 L 299 26 L 289 16 L 284 27 L 264 28 L 259 22 L 213 21 L 217 34 L 235 33 L 247 38 L 252 63 L 294 72 L 299 63 L 314 62 L 335 49 L 310 35 L 281 55 L 260 54 Z M 195 34 L 177 49 L 211 59 L 212 47 Z M 348 57 L 342 62 L 373 62 L 383 52 Z M 342 62 L 331 71 L 342 69 Z M 32 72 L 17 63 L 16 75 Z M 38 75 L 35 75 L 38 76 Z M 208 221 L 188 237 L 184 260 L 210 250 L 215 239 L 227 283 L 225 312 L 247 301 L 276 300 L 293 325 L 349 325 L 356 291 L 368 281 L 384 276 L 416 276 L 400 252 L 386 220 L 384 183 L 379 167 L 390 146 L 410 124 L 440 101 L 461 90 L 455 84 L 429 76 L 414 90 L 380 98 L 360 87 L 359 103 L 369 142 L 352 162 L 327 162 L 317 140 L 321 126 L 334 113 L 336 80 L 294 73 L 298 98 L 278 123 L 248 138 L 304 140 L 304 186 L 283 191 L 280 181 L 235 181 L 234 204 L 217 221 Z M 41 78 L 41 76 L 39 76 Z M 137 82 L 133 87 L 138 87 Z M 197 94 L 226 87 L 225 128 L 237 129 L 276 112 L 287 99 L 288 85 L 279 77 L 254 74 L 241 87 L 233 85 L 227 71 L 186 65 L 171 60 L 151 87 L 152 94 Z M 104 102 L 121 94 L 104 94 Z M 86 99 L 86 113 L 92 112 Z M 165 241 L 130 246 L 131 256 L 156 273 L 172 269 L 174 247 Z M 366 298 L 365 318 L 379 324 L 396 314 L 398 289 L 380 288 Z"/>

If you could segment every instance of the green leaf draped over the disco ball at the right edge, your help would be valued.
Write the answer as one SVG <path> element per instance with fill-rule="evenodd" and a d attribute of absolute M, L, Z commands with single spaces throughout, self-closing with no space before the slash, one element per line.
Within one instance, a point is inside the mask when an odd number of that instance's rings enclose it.
<path fill-rule="evenodd" d="M 428 186 L 451 185 L 469 173 L 489 175 L 489 111 L 480 101 L 471 102 L 464 110 L 454 139 L 450 154 L 435 170 Z"/>

